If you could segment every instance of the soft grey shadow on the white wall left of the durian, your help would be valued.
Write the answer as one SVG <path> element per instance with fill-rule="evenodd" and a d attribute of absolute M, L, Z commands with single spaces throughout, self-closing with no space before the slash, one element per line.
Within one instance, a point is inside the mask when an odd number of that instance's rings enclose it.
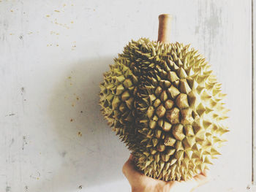
<path fill-rule="evenodd" d="M 49 112 L 62 160 L 59 172 L 53 172 L 53 191 L 87 188 L 122 177 L 121 166 L 129 152 L 107 126 L 98 104 L 99 83 L 109 64 L 113 58 L 79 61 L 53 85 Z"/>

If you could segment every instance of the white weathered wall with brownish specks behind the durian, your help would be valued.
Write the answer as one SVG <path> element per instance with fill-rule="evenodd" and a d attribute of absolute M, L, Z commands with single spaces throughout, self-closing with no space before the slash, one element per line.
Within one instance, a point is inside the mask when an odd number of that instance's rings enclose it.
<path fill-rule="evenodd" d="M 0 0 L 0 191 L 130 191 L 129 151 L 99 112 L 99 82 L 130 39 L 173 42 L 206 56 L 230 108 L 230 133 L 197 191 L 249 191 L 252 2 Z"/>

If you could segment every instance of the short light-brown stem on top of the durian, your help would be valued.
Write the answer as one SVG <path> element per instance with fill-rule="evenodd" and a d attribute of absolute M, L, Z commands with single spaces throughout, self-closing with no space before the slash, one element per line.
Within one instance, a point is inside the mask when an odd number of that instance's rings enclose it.
<path fill-rule="evenodd" d="M 159 15 L 158 42 L 170 43 L 170 23 L 172 16 L 169 14 Z"/>

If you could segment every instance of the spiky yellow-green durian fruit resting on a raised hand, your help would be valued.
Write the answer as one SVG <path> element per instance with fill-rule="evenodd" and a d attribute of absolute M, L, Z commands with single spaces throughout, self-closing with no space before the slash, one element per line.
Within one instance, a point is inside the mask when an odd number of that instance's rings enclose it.
<path fill-rule="evenodd" d="M 208 169 L 225 141 L 228 110 L 206 59 L 189 45 L 141 38 L 114 61 L 100 84 L 99 104 L 137 168 L 165 181 Z"/>

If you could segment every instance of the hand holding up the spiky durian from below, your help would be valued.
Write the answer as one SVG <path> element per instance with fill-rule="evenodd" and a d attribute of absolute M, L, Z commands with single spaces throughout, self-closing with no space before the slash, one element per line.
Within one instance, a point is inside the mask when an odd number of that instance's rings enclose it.
<path fill-rule="evenodd" d="M 132 192 L 189 192 L 208 182 L 206 171 L 188 181 L 155 180 L 135 169 L 132 155 L 124 164 L 122 171 L 132 187 Z"/>

